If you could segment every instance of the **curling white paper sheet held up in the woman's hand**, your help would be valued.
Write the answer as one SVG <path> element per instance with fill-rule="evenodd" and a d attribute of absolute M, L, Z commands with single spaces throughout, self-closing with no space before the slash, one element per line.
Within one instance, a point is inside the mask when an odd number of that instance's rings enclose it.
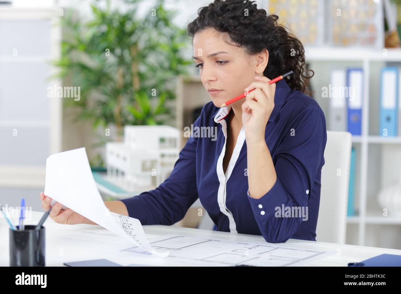
<path fill-rule="evenodd" d="M 150 246 L 138 219 L 107 209 L 93 179 L 85 148 L 47 158 L 45 195 L 152 254 L 168 256 L 168 251 L 156 252 Z"/>

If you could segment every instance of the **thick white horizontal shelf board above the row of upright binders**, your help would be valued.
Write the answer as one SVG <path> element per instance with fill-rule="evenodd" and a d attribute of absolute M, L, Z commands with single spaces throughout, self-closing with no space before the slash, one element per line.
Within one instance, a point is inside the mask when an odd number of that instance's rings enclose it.
<path fill-rule="evenodd" d="M 306 60 L 321 61 L 395 61 L 401 62 L 401 48 L 366 49 L 361 47 L 305 47 Z"/>

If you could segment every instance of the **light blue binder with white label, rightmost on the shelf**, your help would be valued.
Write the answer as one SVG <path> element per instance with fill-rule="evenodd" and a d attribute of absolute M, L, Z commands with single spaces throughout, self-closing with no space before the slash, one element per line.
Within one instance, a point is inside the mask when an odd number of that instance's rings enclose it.
<path fill-rule="evenodd" d="M 380 126 L 379 136 L 397 136 L 398 110 L 398 69 L 385 67 L 380 79 Z"/>

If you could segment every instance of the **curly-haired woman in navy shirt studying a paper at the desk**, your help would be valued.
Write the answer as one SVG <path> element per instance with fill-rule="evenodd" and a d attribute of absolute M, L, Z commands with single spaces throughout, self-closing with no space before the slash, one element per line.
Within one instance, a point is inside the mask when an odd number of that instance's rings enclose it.
<path fill-rule="evenodd" d="M 216 0 L 188 25 L 194 62 L 211 102 L 194 127 L 217 127 L 217 138 L 191 136 L 170 176 L 155 190 L 105 202 L 143 225 L 172 225 L 200 199 L 217 230 L 262 235 L 267 242 L 316 240 L 326 123 L 307 94 L 301 42 L 253 1 Z M 267 82 L 290 70 L 276 84 Z M 227 100 L 252 92 L 220 108 Z M 51 199 L 40 195 L 42 207 Z M 94 224 L 57 203 L 62 224 Z"/>

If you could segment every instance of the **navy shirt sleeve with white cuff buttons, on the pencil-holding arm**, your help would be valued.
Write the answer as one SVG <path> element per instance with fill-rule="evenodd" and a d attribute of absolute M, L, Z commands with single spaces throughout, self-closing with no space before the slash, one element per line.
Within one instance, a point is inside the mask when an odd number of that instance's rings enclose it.
<path fill-rule="evenodd" d="M 322 110 L 318 106 L 305 106 L 290 122 L 288 134 L 277 149 L 277 180 L 273 187 L 259 199 L 252 198 L 248 189 L 247 198 L 267 242 L 286 242 L 301 222 L 308 220 L 309 196 L 316 174 L 324 164 L 326 141 L 326 119 Z M 297 211 L 298 215 L 286 217 L 286 207 Z M 306 219 L 302 210 L 306 212 Z"/>

